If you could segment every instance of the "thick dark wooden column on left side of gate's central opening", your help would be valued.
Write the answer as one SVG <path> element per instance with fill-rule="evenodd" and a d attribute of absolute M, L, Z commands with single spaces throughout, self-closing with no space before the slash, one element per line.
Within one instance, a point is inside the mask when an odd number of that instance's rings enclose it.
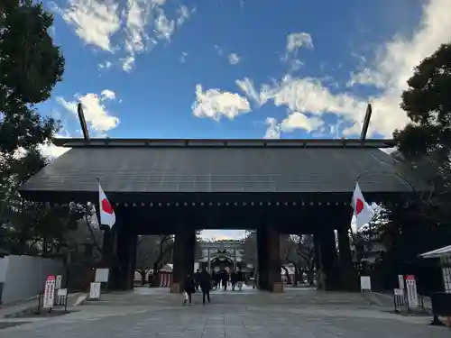
<path fill-rule="evenodd" d="M 193 274 L 195 249 L 196 229 L 189 223 L 180 224 L 175 233 L 171 292 L 181 292 L 186 276 Z"/>

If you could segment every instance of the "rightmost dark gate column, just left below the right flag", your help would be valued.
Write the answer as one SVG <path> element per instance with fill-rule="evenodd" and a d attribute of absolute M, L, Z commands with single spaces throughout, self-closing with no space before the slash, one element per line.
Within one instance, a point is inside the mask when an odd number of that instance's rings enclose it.
<path fill-rule="evenodd" d="M 358 291 L 358 283 L 354 273 L 354 265 L 349 243 L 349 222 L 344 222 L 338 227 L 338 251 L 340 261 L 341 287 L 348 291 Z"/>

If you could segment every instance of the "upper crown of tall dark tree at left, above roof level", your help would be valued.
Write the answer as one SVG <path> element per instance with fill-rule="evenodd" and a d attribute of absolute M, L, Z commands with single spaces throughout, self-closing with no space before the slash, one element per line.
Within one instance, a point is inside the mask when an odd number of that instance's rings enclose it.
<path fill-rule="evenodd" d="M 34 105 L 51 96 L 64 59 L 48 30 L 51 14 L 32 0 L 0 4 L 0 152 L 48 142 L 60 124 L 41 118 Z"/>

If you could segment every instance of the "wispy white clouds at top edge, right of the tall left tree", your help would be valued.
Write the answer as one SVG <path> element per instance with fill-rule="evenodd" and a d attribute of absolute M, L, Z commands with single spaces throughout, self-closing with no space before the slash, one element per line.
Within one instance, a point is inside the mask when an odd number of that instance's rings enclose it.
<path fill-rule="evenodd" d="M 131 71 L 137 54 L 170 41 L 176 28 L 194 13 L 180 5 L 170 18 L 165 5 L 166 0 L 127 0 L 120 8 L 115 0 L 69 0 L 66 8 L 54 7 L 82 41 L 118 53 L 124 71 Z"/>

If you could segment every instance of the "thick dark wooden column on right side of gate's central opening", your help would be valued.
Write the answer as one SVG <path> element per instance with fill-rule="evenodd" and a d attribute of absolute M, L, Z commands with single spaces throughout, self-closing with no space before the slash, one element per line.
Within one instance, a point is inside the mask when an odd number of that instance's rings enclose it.
<path fill-rule="evenodd" d="M 281 282 L 280 233 L 272 224 L 263 224 L 257 230 L 258 275 L 262 290 L 272 290 L 272 284 Z"/>

